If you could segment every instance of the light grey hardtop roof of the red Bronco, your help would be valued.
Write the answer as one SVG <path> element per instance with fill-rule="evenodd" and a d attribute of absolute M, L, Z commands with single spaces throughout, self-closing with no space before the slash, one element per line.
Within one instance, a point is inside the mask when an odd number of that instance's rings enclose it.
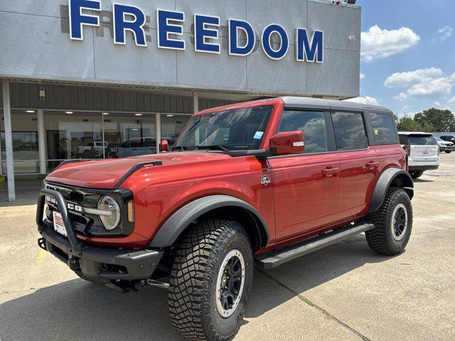
<path fill-rule="evenodd" d="M 357 110 L 380 110 L 382 112 L 391 112 L 390 109 L 386 107 L 380 107 L 378 105 L 370 105 L 370 104 L 360 104 L 355 102 L 346 101 L 337 101 L 333 99 L 321 99 L 321 98 L 313 98 L 313 97 L 280 97 L 286 107 L 302 107 L 302 108 L 317 108 L 317 109 L 335 109 L 335 110 L 349 110 L 349 109 L 357 109 Z"/>

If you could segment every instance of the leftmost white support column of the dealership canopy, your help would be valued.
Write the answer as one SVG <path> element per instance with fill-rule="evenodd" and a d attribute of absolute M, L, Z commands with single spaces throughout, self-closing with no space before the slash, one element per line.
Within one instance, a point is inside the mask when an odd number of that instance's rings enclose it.
<path fill-rule="evenodd" d="M 3 114 L 5 119 L 5 149 L 6 149 L 6 176 L 8 177 L 9 201 L 16 200 L 14 184 L 13 134 L 11 132 L 11 101 L 9 97 L 9 81 L 3 80 Z"/>

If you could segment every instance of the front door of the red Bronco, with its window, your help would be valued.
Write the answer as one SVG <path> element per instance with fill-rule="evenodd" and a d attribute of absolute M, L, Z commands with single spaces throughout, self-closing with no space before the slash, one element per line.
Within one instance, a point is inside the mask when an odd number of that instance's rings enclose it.
<path fill-rule="evenodd" d="M 305 153 L 269 158 L 277 239 L 310 232 L 333 220 L 341 205 L 341 164 L 330 153 L 324 112 L 285 109 L 278 132 L 304 132 Z"/>

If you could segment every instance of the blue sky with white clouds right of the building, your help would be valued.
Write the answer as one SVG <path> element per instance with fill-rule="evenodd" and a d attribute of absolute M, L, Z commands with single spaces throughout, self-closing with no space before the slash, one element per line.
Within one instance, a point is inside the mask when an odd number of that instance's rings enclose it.
<path fill-rule="evenodd" d="M 358 0 L 360 97 L 399 117 L 455 113 L 455 0 Z M 352 100 L 352 99 L 351 99 Z"/>

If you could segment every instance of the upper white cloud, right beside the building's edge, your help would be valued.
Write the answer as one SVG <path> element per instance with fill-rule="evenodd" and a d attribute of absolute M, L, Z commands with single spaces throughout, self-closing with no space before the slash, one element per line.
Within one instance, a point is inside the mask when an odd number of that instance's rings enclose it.
<path fill-rule="evenodd" d="M 378 25 L 362 32 L 361 56 L 363 60 L 387 58 L 403 52 L 416 45 L 420 37 L 411 28 L 401 27 L 397 30 L 382 30 Z"/>

